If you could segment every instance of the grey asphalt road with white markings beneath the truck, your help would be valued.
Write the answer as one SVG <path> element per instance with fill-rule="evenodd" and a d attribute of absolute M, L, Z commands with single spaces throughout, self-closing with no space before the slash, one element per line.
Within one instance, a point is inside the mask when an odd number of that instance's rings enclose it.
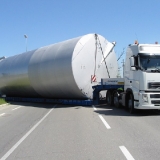
<path fill-rule="evenodd" d="M 159 160 L 159 123 L 107 105 L 0 106 L 0 160 Z"/>

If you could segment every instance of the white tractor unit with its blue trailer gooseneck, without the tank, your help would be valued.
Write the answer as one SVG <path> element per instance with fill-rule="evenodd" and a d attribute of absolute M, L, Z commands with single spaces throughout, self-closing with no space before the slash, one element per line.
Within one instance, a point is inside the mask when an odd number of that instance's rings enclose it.
<path fill-rule="evenodd" d="M 93 89 L 96 103 L 98 93 L 107 90 L 107 103 L 124 106 L 131 114 L 135 109 L 159 110 L 160 45 L 139 44 L 137 41 L 130 44 L 126 50 L 123 78 L 103 78 Z"/>

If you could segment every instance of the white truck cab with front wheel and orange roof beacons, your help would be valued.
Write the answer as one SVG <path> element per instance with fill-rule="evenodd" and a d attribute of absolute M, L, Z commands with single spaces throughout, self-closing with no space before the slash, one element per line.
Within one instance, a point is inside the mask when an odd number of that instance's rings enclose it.
<path fill-rule="evenodd" d="M 160 45 L 129 45 L 123 74 L 124 106 L 160 109 Z"/>

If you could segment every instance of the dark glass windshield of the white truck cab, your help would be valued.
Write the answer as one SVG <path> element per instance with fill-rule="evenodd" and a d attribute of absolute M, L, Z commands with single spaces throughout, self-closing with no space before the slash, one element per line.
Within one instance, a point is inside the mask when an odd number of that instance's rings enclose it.
<path fill-rule="evenodd" d="M 160 72 L 160 55 L 139 54 L 139 62 L 142 70 Z"/>

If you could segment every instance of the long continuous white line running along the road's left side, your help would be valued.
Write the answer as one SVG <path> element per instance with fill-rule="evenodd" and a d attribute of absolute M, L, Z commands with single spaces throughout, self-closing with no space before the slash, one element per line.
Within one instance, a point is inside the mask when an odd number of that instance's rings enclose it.
<path fill-rule="evenodd" d="M 56 105 L 53 107 L 55 108 Z M 49 110 L 49 112 L 38 122 L 36 123 L 0 160 L 7 159 L 10 154 L 14 152 L 14 150 L 44 121 L 44 119 L 52 112 L 52 109 Z"/>

